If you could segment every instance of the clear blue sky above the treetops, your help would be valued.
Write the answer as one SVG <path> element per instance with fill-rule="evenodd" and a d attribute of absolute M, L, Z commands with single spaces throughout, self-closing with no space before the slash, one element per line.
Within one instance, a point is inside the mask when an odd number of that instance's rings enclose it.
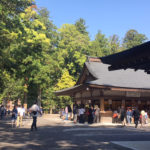
<path fill-rule="evenodd" d="M 106 37 L 119 35 L 122 40 L 129 29 L 135 29 L 150 39 L 150 0 L 35 0 L 46 7 L 59 28 L 83 18 L 93 40 L 98 30 Z"/>

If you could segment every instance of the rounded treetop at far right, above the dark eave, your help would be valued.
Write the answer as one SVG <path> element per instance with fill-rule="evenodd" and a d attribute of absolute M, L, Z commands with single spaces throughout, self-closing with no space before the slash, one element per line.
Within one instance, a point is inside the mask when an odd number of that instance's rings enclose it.
<path fill-rule="evenodd" d="M 134 46 L 140 45 L 147 40 L 144 34 L 138 33 L 138 31 L 131 29 L 127 31 L 123 39 L 123 47 L 128 49 Z"/>

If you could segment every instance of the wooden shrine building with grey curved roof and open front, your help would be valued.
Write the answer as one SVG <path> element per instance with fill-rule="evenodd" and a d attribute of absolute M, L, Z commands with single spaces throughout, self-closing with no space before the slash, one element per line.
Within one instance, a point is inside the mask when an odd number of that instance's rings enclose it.
<path fill-rule="evenodd" d="M 149 109 L 150 76 L 142 70 L 109 71 L 98 57 L 88 57 L 74 87 L 56 91 L 71 96 L 74 103 L 98 105 L 101 122 L 112 122 L 112 113 L 124 106 Z"/>

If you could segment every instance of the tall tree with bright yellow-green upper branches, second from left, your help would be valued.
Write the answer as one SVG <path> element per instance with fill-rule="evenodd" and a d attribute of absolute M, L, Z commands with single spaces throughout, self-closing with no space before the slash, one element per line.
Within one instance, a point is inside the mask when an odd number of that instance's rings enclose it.
<path fill-rule="evenodd" d="M 31 7 L 26 9 L 25 13 L 21 14 L 21 17 L 26 34 L 22 43 L 23 56 L 19 70 L 24 78 L 28 78 L 26 84 L 29 85 L 30 90 L 32 90 L 31 85 L 34 86 L 34 90 L 37 93 L 34 99 L 37 99 L 38 104 L 41 105 L 42 91 L 50 84 L 50 70 L 52 70 L 49 62 L 51 60 L 50 29 L 46 24 L 48 21 L 42 20 L 37 11 Z M 30 95 L 30 97 L 33 96 Z"/>

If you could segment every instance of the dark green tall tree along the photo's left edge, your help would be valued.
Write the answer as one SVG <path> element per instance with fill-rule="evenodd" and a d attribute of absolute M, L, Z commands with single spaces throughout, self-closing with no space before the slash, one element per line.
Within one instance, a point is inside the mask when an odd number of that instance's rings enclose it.
<path fill-rule="evenodd" d="M 25 90 L 21 76 L 18 78 L 14 49 L 21 40 L 23 23 L 20 14 L 33 5 L 32 0 L 0 1 L 0 97 L 17 99 Z M 20 49 L 20 47 L 18 47 Z"/>

